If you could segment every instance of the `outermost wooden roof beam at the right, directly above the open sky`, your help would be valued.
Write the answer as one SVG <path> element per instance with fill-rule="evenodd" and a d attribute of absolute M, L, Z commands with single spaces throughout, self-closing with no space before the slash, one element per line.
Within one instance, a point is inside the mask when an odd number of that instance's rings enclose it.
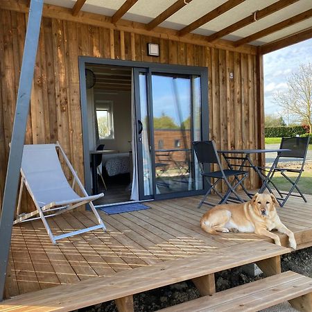
<path fill-rule="evenodd" d="M 261 55 L 270 53 L 279 49 L 283 49 L 286 46 L 291 46 L 292 44 L 296 44 L 298 42 L 302 42 L 304 40 L 308 40 L 311 38 L 312 38 L 312 27 L 307 28 L 304 31 L 294 33 L 293 35 L 286 36 L 279 40 L 275 40 L 268 44 L 263 44 L 263 46 L 259 47 L 259 53 Z"/>

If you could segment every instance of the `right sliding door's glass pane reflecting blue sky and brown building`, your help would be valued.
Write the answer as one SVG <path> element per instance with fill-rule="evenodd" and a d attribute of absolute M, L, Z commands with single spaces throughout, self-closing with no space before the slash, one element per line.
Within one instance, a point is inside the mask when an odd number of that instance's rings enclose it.
<path fill-rule="evenodd" d="M 200 76 L 153 73 L 156 194 L 202 189 L 191 142 L 202 137 Z"/>

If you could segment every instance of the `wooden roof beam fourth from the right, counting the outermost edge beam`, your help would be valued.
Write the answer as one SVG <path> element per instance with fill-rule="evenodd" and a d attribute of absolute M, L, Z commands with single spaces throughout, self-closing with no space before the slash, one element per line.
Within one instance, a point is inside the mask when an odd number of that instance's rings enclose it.
<path fill-rule="evenodd" d="M 239 4 L 241 4 L 244 1 L 245 0 L 229 0 L 225 3 L 223 3 L 221 6 L 218 6 L 218 8 L 215 8 L 214 10 L 208 12 L 207 14 L 200 17 L 196 21 L 193 21 L 193 23 L 182 28 L 179 32 L 179 35 L 182 37 L 184 35 L 187 35 L 187 33 L 191 33 L 191 31 L 194 31 L 196 28 L 199 28 L 200 26 L 208 23 L 208 21 L 215 19 L 219 15 L 227 12 L 228 10 L 234 8 L 235 6 L 238 6 Z"/>

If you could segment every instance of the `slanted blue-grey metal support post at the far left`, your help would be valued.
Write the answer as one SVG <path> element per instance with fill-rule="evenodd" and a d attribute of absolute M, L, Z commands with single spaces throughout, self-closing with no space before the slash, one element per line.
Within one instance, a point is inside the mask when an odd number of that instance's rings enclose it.
<path fill-rule="evenodd" d="M 31 0 L 0 219 L 0 302 L 3 300 L 4 284 L 6 281 L 6 268 L 8 266 L 8 255 L 10 252 L 29 103 L 31 101 L 31 86 L 33 83 L 33 72 L 40 34 L 42 8 L 43 0 Z"/>

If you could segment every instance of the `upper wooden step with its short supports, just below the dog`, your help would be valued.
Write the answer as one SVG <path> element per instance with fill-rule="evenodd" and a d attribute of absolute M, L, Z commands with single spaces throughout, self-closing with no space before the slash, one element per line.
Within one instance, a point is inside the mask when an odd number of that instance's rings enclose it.
<path fill-rule="evenodd" d="M 280 255 L 290 250 L 266 241 L 232 245 L 76 284 L 47 288 L 0 302 L 0 311 L 71 311 L 115 300 L 119 311 L 133 311 L 132 295 L 192 279 L 201 295 L 215 293 L 214 273 L 257 263 L 266 273 L 281 272 Z"/>

